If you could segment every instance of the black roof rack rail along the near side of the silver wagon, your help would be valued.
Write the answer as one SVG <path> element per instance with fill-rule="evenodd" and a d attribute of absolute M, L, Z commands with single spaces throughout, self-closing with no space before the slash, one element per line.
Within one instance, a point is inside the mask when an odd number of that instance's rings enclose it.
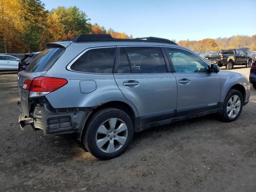
<path fill-rule="evenodd" d="M 110 34 L 82 34 L 74 38 L 73 42 L 100 42 L 100 41 L 131 41 L 131 42 L 159 42 L 177 45 L 175 42 L 158 37 L 144 37 L 135 39 L 112 38 Z"/>

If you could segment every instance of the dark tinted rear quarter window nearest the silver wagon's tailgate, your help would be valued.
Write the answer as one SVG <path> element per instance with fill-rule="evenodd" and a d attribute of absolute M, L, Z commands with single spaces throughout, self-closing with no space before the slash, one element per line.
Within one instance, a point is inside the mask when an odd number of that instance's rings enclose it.
<path fill-rule="evenodd" d="M 70 67 L 87 73 L 112 73 L 116 48 L 96 48 L 86 51 Z"/>

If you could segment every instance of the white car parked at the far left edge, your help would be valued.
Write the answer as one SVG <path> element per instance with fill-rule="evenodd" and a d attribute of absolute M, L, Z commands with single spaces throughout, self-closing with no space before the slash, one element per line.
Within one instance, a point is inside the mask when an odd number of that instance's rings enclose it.
<path fill-rule="evenodd" d="M 0 70 L 18 70 L 19 58 L 10 55 L 0 55 Z"/>

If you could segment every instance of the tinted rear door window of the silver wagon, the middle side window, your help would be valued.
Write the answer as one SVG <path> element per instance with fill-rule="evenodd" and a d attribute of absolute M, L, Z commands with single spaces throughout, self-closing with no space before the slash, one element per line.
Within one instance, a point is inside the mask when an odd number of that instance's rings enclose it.
<path fill-rule="evenodd" d="M 160 47 L 125 47 L 124 51 L 128 56 L 132 73 L 167 72 L 164 56 Z"/>

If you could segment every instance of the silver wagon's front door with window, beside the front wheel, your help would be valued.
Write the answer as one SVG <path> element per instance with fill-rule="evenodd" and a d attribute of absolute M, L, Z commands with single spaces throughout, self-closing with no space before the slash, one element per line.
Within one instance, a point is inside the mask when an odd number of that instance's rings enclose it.
<path fill-rule="evenodd" d="M 164 48 L 177 81 L 177 113 L 185 116 L 218 108 L 220 77 L 196 54 L 181 48 Z"/>

